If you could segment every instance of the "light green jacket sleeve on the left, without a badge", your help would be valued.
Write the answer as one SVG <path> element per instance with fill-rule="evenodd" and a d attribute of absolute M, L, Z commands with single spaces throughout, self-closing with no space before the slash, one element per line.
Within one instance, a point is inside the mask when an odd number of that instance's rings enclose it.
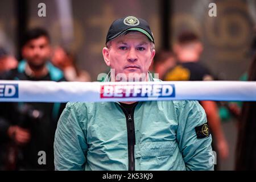
<path fill-rule="evenodd" d="M 83 128 L 72 103 L 68 102 L 55 133 L 55 170 L 84 170 L 88 146 Z"/>

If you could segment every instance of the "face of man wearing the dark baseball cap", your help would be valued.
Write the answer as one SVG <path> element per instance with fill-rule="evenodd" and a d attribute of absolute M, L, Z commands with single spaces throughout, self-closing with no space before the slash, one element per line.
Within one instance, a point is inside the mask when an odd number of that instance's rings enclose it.
<path fill-rule="evenodd" d="M 103 55 L 106 64 L 114 69 L 115 76 L 124 73 L 129 79 L 129 76 L 147 75 L 155 50 L 151 50 L 146 35 L 134 31 L 112 40 L 110 48 L 103 49 Z"/>

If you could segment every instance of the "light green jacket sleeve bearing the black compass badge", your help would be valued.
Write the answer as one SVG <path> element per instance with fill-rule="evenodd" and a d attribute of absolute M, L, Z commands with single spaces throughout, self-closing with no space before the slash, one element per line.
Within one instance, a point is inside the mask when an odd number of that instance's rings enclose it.
<path fill-rule="evenodd" d="M 197 138 L 195 127 L 207 123 L 197 101 L 183 101 L 178 116 L 177 141 L 187 170 L 213 170 L 212 136 Z"/>

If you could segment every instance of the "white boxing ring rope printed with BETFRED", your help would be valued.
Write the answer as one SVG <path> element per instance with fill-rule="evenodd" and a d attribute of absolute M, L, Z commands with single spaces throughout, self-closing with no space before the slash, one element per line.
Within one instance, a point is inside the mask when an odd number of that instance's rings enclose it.
<path fill-rule="evenodd" d="M 55 82 L 0 80 L 0 102 L 256 101 L 256 81 Z"/>

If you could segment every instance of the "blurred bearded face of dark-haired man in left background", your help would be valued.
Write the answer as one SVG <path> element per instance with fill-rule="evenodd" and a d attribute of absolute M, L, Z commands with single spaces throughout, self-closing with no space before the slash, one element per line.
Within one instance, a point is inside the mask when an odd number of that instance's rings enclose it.
<path fill-rule="evenodd" d="M 49 40 L 46 36 L 32 39 L 22 48 L 22 56 L 33 68 L 42 68 L 51 54 Z"/>

